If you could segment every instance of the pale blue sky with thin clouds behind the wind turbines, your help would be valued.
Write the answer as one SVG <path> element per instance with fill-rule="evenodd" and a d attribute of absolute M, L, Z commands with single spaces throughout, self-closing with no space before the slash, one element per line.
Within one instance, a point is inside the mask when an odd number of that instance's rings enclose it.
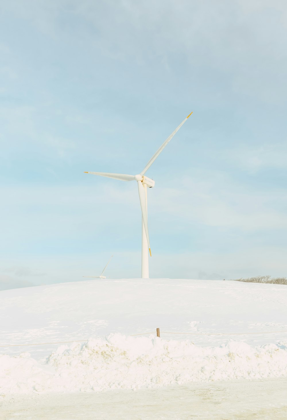
<path fill-rule="evenodd" d="M 0 5 L 0 283 L 286 276 L 285 1 Z M 4 286 L 3 286 L 4 287 Z"/>

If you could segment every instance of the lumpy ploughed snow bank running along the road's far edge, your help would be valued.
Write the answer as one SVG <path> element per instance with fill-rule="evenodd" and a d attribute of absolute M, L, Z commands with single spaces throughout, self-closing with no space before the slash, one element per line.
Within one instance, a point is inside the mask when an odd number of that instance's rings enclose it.
<path fill-rule="evenodd" d="M 170 384 L 287 376 L 287 341 L 250 347 L 111 334 L 60 346 L 39 364 L 29 353 L 0 355 L 0 395 L 106 391 Z"/>

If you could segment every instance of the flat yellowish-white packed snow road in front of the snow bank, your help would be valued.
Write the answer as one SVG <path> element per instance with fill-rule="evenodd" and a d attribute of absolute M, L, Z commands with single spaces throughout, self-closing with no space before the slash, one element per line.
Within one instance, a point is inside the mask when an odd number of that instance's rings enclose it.
<path fill-rule="evenodd" d="M 283 420 L 287 379 L 0 399 L 1 420 Z"/>

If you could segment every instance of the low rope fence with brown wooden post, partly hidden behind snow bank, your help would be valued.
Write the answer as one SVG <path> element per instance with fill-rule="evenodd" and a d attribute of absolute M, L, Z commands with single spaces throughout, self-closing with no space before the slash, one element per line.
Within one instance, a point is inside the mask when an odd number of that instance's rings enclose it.
<path fill-rule="evenodd" d="M 151 333 L 139 333 L 139 334 L 127 334 L 130 337 L 135 336 L 144 336 L 155 334 L 157 337 L 160 337 L 159 328 L 156 328 L 156 331 L 152 331 Z M 255 334 L 276 334 L 276 333 L 287 333 L 285 331 L 262 331 L 262 332 L 248 332 L 248 333 L 178 333 L 178 332 L 168 332 L 168 331 L 161 331 L 161 334 L 185 334 L 185 335 L 192 335 L 192 336 L 245 336 L 245 335 L 255 335 Z M 88 341 L 88 339 L 83 340 L 71 340 L 71 341 L 53 341 L 50 343 L 31 343 L 31 344 L 5 344 L 1 345 L 0 347 L 24 347 L 24 346 L 44 346 L 47 344 L 68 344 L 68 343 L 82 343 L 84 341 Z"/>

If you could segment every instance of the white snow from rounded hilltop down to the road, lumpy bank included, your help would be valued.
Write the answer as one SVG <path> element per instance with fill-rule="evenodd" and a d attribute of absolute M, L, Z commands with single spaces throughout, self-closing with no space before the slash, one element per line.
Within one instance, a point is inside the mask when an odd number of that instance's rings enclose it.
<path fill-rule="evenodd" d="M 284 285 L 134 279 L 1 291 L 0 394 L 284 377 L 286 315 Z M 160 339 L 131 336 L 157 327 Z M 83 342 L 34 345 L 73 340 Z"/>

